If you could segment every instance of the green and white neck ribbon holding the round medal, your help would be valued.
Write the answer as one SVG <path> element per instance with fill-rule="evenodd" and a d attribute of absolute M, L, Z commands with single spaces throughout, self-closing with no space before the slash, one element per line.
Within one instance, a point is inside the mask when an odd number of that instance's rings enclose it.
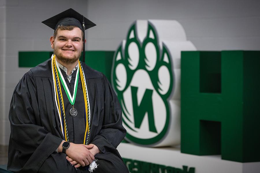
<path fill-rule="evenodd" d="M 56 60 L 56 62 L 57 62 L 57 60 Z M 58 69 L 59 78 L 60 78 L 60 80 L 62 82 L 62 86 L 63 86 L 63 88 L 64 88 L 64 90 L 66 92 L 66 95 L 67 95 L 67 97 L 68 97 L 68 99 L 70 101 L 71 106 L 73 107 L 73 105 L 75 103 L 75 100 L 76 100 L 77 88 L 78 88 L 78 82 L 79 82 L 79 67 L 77 68 L 76 78 L 75 78 L 75 82 L 74 82 L 73 96 L 71 96 L 71 94 L 70 94 L 70 91 L 69 91 L 68 86 L 66 84 L 66 81 L 65 81 L 65 79 L 64 79 L 64 77 L 63 77 L 63 75 L 62 75 L 62 73 L 60 71 L 60 68 L 57 67 L 57 69 Z"/>

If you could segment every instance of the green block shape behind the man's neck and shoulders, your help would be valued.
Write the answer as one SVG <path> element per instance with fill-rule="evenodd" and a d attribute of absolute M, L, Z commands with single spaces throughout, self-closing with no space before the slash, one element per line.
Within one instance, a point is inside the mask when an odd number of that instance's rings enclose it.
<path fill-rule="evenodd" d="M 51 57 L 53 52 L 19 52 L 19 67 L 35 67 Z M 102 72 L 111 82 L 114 51 L 86 51 L 86 64 Z M 82 60 L 82 58 L 80 58 Z"/>

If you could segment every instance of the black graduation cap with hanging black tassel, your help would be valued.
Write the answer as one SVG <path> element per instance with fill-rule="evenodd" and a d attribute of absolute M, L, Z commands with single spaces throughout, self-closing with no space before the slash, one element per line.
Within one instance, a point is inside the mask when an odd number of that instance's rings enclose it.
<path fill-rule="evenodd" d="M 42 21 L 45 25 L 48 27 L 54 29 L 54 31 L 57 29 L 58 26 L 76 26 L 83 31 L 83 62 L 85 62 L 85 30 L 89 29 L 91 27 L 96 26 L 93 22 L 88 20 L 86 17 L 84 17 L 82 14 L 79 14 L 72 8 L 65 10 L 64 12 L 61 12 L 47 20 Z"/>

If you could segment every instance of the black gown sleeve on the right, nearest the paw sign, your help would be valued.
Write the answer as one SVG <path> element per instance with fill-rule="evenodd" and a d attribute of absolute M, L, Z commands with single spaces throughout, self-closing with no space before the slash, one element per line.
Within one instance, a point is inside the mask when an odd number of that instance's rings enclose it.
<path fill-rule="evenodd" d="M 122 110 L 116 93 L 107 78 L 103 79 L 103 124 L 100 132 L 90 143 L 95 144 L 102 153 L 114 153 L 121 158 L 116 148 L 126 135 L 126 130 L 122 126 Z"/>

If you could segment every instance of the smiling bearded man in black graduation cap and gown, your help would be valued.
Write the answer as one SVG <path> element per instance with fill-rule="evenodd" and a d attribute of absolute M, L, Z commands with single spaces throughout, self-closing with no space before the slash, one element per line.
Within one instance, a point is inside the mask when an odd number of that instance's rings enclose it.
<path fill-rule="evenodd" d="M 95 24 L 73 9 L 43 23 L 55 30 L 54 54 L 14 90 L 8 170 L 129 172 L 116 150 L 126 133 L 117 96 L 102 73 L 79 61 L 84 31 Z"/>

